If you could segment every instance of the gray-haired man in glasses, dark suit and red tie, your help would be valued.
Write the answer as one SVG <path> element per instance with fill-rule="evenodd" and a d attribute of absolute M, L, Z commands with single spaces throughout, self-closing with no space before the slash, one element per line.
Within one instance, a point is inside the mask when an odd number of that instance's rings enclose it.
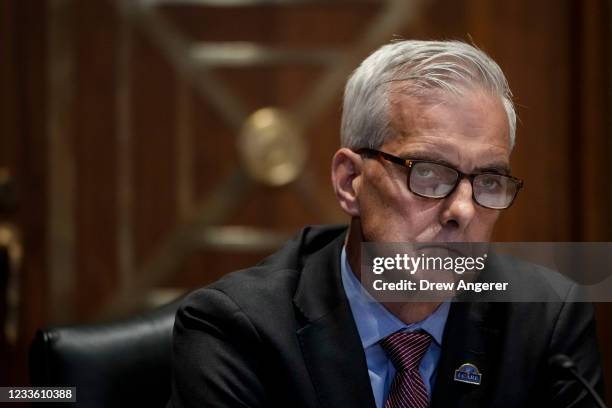
<path fill-rule="evenodd" d="M 347 83 L 332 161 L 348 229 L 307 227 L 190 295 L 169 406 L 592 406 L 549 364 L 568 355 L 601 392 L 590 305 L 381 304 L 360 290 L 363 242 L 489 240 L 521 187 L 510 98 L 497 64 L 465 43 L 394 42 L 368 57 Z M 457 377 L 465 367 L 477 380 Z"/>

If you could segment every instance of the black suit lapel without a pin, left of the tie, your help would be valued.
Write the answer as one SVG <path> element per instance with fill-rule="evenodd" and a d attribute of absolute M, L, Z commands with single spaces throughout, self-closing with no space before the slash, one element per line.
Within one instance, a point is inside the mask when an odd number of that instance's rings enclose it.
<path fill-rule="evenodd" d="M 365 354 L 340 277 L 343 239 L 304 265 L 294 297 L 304 318 L 297 337 L 320 405 L 373 408 Z"/>

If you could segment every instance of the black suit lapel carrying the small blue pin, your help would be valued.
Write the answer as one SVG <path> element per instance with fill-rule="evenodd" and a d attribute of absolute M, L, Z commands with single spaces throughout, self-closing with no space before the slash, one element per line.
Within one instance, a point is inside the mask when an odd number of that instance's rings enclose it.
<path fill-rule="evenodd" d="M 486 399 L 497 375 L 503 304 L 453 303 L 442 340 L 431 407 L 488 406 Z M 480 385 L 455 381 L 455 370 L 470 363 L 482 374 Z"/>

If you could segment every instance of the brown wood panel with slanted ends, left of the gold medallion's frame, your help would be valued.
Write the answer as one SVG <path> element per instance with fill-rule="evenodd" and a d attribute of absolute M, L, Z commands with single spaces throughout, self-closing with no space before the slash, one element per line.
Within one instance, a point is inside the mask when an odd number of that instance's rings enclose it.
<path fill-rule="evenodd" d="M 132 53 L 132 172 L 135 268 L 176 224 L 175 73 L 137 31 Z"/>

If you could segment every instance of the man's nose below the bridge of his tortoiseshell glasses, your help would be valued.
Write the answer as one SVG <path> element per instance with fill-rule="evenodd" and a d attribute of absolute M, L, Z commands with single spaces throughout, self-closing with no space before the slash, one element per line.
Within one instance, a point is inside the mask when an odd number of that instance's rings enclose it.
<path fill-rule="evenodd" d="M 444 199 L 440 223 L 447 232 L 462 232 L 476 214 L 476 203 L 472 199 L 472 185 L 467 178 L 459 182 L 453 193 Z"/>

